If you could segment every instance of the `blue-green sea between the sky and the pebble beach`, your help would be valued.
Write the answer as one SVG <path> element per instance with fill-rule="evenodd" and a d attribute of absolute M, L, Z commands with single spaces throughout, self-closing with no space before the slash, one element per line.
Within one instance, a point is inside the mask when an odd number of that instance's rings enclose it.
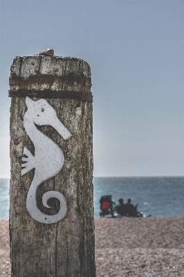
<path fill-rule="evenodd" d="M 94 215 L 99 217 L 100 197 L 112 195 L 152 216 L 184 216 L 184 177 L 94 177 Z M 0 218 L 8 218 L 9 179 L 0 179 Z"/>

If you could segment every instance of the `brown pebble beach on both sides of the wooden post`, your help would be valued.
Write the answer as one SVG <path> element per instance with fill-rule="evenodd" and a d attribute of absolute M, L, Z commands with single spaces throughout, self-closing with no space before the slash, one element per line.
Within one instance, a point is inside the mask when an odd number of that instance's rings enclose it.
<path fill-rule="evenodd" d="M 95 218 L 97 277 L 183 277 L 183 250 L 184 217 Z M 0 220 L 0 276 L 10 276 L 9 256 L 8 220 Z"/>

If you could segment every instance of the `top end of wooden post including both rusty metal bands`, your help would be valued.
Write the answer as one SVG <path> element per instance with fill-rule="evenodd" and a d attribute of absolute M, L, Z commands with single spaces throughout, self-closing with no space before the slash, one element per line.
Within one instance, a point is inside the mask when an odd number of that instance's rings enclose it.
<path fill-rule="evenodd" d="M 74 98 L 93 102 L 91 69 L 76 57 L 53 55 L 15 57 L 10 68 L 10 97 Z"/>

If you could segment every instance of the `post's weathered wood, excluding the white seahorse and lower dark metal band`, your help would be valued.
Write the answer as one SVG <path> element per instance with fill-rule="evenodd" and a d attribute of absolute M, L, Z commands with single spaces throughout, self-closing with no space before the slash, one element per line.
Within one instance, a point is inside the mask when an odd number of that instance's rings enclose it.
<path fill-rule="evenodd" d="M 10 89 L 87 91 L 91 89 L 89 65 L 70 57 L 16 57 L 10 75 Z M 38 98 L 33 98 L 38 100 Z M 26 209 L 26 196 L 34 170 L 21 177 L 24 146 L 34 154 L 23 118 L 26 98 L 13 97 L 10 108 L 10 258 L 13 277 L 94 277 L 95 248 L 93 222 L 92 103 L 75 99 L 46 99 L 72 136 L 64 141 L 53 127 L 39 129 L 64 152 L 64 166 L 37 190 L 37 204 L 46 214 L 57 213 L 57 199 L 46 208 L 42 195 L 58 190 L 64 195 L 67 213 L 54 224 L 42 224 Z M 40 141 L 42 143 L 42 141 Z"/>

